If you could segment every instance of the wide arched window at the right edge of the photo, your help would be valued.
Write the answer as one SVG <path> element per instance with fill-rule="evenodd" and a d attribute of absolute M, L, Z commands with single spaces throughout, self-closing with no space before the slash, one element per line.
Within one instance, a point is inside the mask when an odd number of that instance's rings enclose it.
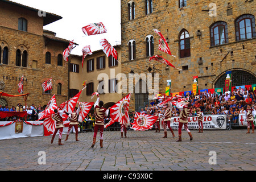
<path fill-rule="evenodd" d="M 255 37 L 255 17 L 250 14 L 240 16 L 236 20 L 236 39 L 245 40 Z"/>

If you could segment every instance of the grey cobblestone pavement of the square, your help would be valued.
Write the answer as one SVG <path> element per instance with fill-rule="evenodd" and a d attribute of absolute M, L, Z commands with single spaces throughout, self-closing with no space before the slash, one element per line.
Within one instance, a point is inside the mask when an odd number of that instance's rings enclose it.
<path fill-rule="evenodd" d="M 177 170 L 238 170 L 256 169 L 256 134 L 246 130 L 192 130 L 193 140 L 183 131 L 183 142 L 176 142 L 168 131 L 127 131 L 121 138 L 120 131 L 104 131 L 104 147 L 90 148 L 93 133 L 69 136 L 64 146 L 53 144 L 49 137 L 0 140 L 0 170 L 11 171 L 177 171 Z M 39 164 L 45 152 L 46 164 Z M 216 152 L 216 164 L 210 151 Z M 210 155 L 209 155 L 210 153 Z M 40 160 L 39 160 L 40 159 Z"/>

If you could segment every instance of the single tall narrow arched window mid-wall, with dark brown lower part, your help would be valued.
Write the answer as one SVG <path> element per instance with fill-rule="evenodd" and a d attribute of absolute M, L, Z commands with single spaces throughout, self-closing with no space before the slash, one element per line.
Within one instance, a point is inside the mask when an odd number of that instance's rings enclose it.
<path fill-rule="evenodd" d="M 190 38 L 187 30 L 181 30 L 179 40 L 180 40 L 180 58 L 191 56 Z"/>

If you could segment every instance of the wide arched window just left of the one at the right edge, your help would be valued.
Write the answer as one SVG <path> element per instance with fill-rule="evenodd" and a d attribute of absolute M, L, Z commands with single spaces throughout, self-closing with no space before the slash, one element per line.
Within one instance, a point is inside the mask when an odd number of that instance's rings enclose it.
<path fill-rule="evenodd" d="M 218 46 L 229 42 L 228 24 L 216 22 L 210 27 L 210 46 Z"/>

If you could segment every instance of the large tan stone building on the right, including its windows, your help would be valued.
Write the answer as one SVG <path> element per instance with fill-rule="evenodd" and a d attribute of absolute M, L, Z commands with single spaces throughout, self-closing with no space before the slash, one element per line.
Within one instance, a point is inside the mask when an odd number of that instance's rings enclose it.
<path fill-rule="evenodd" d="M 199 77 L 199 89 L 221 88 L 227 71 L 232 71 L 232 86 L 256 84 L 255 8 L 254 0 L 121 1 L 122 73 L 159 73 L 161 92 L 167 80 L 172 92 L 192 90 L 193 76 Z M 176 58 L 158 50 L 154 28 Z M 154 55 L 182 71 L 149 62 Z M 131 110 L 148 103 L 152 93 L 145 91 L 132 94 Z"/>

